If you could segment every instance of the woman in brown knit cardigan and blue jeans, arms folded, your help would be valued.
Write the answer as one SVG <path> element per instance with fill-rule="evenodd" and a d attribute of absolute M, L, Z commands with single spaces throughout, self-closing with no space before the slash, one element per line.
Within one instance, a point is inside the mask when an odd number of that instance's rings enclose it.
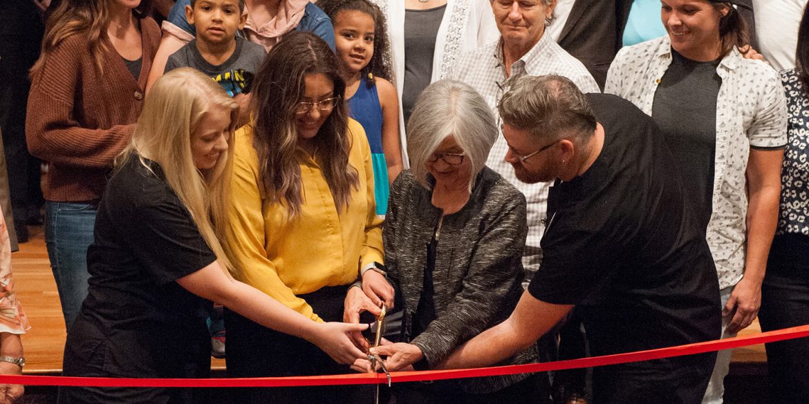
<path fill-rule="evenodd" d="M 63 0 L 32 68 L 28 149 L 50 163 L 45 243 L 68 328 L 87 296 L 98 201 L 113 158 L 129 144 L 160 40 L 141 3 Z"/>

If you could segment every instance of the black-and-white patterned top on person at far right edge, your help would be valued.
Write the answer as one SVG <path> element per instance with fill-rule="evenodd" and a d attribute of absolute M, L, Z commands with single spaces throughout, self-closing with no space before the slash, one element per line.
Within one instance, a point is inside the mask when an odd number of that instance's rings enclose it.
<path fill-rule="evenodd" d="M 795 69 L 781 72 L 789 122 L 781 170 L 781 208 L 777 234 L 809 236 L 809 95 Z"/>

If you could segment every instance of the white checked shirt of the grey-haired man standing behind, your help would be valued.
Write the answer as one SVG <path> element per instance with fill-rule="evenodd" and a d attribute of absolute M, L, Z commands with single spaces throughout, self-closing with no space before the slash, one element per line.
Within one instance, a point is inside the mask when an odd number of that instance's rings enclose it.
<path fill-rule="evenodd" d="M 450 73 L 450 78 L 460 80 L 474 87 L 481 93 L 494 116 L 500 114 L 498 103 L 500 98 L 515 79 L 530 76 L 558 74 L 570 78 L 579 90 L 585 93 L 600 92 L 599 86 L 587 68 L 575 57 L 570 56 L 550 36 L 542 36 L 540 41 L 528 53 L 511 65 L 509 78 L 503 65 L 502 39 L 465 54 L 460 58 Z M 541 259 L 540 238 L 544 230 L 544 217 L 548 201 L 548 189 L 551 183 L 522 183 L 514 174 L 514 168 L 504 158 L 508 151 L 506 140 L 501 136 L 494 141 L 486 166 L 497 171 L 503 178 L 523 192 L 527 200 L 528 237 L 523 255 L 523 265 L 530 281 L 531 275 L 538 269 Z"/>

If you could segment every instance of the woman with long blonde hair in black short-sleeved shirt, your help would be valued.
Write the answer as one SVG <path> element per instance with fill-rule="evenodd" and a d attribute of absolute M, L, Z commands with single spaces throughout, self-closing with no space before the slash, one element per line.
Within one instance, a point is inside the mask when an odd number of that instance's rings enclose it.
<path fill-rule="evenodd" d="M 362 326 L 312 322 L 228 275 L 222 234 L 237 116 L 238 104 L 196 70 L 155 82 L 99 204 L 89 294 L 68 334 L 66 376 L 207 376 L 202 309 L 210 301 L 341 363 L 364 356 L 346 335 Z M 64 404 L 206 402 L 163 387 L 72 387 L 59 395 Z"/>

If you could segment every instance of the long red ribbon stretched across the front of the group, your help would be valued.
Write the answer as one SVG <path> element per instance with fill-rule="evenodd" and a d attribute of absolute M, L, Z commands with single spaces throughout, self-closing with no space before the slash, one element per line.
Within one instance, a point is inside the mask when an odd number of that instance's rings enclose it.
<path fill-rule="evenodd" d="M 515 373 L 545 372 L 572 368 L 592 368 L 609 364 L 625 364 L 747 347 L 759 343 L 773 343 L 786 339 L 809 337 L 809 325 L 774 330 L 756 335 L 718 339 L 705 343 L 690 343 L 677 347 L 628 352 L 617 355 L 595 356 L 577 360 L 560 360 L 542 364 L 519 364 L 493 368 L 430 370 L 425 372 L 392 372 L 393 382 L 436 381 L 466 377 L 502 376 Z M 140 379 L 117 377 L 58 377 L 0 375 L 0 384 L 13 385 L 69 385 L 94 387 L 297 387 L 307 385 L 373 385 L 387 383 L 383 373 L 354 373 L 334 376 L 307 377 L 255 377 L 226 379 Z"/>

